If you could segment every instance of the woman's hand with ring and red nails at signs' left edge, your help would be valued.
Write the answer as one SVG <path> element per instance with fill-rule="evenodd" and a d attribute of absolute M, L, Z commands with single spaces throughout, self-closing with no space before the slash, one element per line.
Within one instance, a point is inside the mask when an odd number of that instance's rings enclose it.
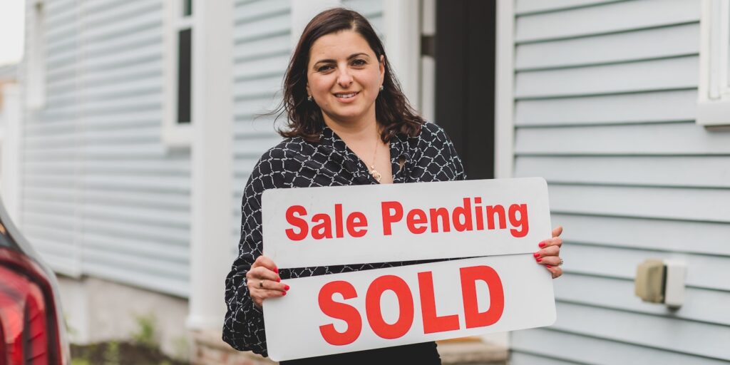
<path fill-rule="evenodd" d="M 285 296 L 289 285 L 281 283 L 279 269 L 274 261 L 261 255 L 253 261 L 251 269 L 246 273 L 246 285 L 253 303 L 261 307 L 264 299 Z"/>

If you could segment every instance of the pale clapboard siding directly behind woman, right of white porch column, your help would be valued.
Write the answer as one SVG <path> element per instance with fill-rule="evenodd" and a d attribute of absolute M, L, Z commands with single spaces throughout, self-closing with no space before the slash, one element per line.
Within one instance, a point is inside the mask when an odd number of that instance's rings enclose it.
<path fill-rule="evenodd" d="M 361 12 L 382 37 L 382 0 L 343 0 L 342 6 Z M 276 132 L 286 115 L 274 122 L 281 101 L 284 73 L 291 58 L 291 0 L 237 1 L 234 10 L 234 191 L 231 212 L 232 247 L 241 234 L 241 198 L 261 154 L 277 145 Z"/>

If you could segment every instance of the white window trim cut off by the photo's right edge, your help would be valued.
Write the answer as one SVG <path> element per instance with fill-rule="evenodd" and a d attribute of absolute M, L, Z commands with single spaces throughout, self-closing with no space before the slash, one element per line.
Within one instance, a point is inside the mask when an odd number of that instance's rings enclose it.
<path fill-rule="evenodd" d="M 730 126 L 730 1 L 702 0 L 696 122 Z"/>

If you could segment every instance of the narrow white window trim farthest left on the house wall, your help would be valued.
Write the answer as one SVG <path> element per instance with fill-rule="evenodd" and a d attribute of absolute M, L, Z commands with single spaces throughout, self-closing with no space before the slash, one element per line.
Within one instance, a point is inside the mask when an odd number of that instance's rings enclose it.
<path fill-rule="evenodd" d="M 26 28 L 31 30 L 27 38 L 26 107 L 39 110 L 45 107 L 46 99 L 45 1 L 29 1 L 26 11 L 30 23 Z"/>

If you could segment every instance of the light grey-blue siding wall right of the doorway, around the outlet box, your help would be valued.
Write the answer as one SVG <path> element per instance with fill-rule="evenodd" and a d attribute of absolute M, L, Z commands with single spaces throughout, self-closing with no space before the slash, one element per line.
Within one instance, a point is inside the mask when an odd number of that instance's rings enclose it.
<path fill-rule="evenodd" d="M 515 176 L 565 226 L 555 325 L 512 364 L 730 361 L 730 132 L 696 125 L 699 1 L 518 0 Z M 646 258 L 688 264 L 680 310 L 634 296 Z"/>

